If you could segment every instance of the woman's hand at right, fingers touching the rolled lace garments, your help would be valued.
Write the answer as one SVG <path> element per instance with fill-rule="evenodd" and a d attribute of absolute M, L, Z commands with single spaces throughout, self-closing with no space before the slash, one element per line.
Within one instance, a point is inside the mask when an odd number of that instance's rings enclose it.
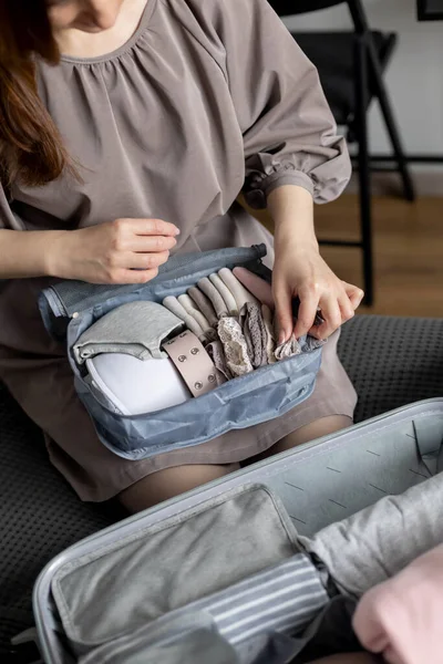
<path fill-rule="evenodd" d="M 354 315 L 364 297 L 360 288 L 341 281 L 332 272 L 315 245 L 280 247 L 276 253 L 272 289 L 280 343 L 292 334 L 296 339 L 308 333 L 328 339 Z M 296 297 L 300 309 L 293 326 L 292 299 Z M 318 310 L 323 323 L 315 326 Z"/>

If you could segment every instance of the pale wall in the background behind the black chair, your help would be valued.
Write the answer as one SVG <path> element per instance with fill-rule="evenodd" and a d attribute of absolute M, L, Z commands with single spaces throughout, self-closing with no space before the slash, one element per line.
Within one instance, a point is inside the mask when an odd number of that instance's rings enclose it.
<path fill-rule="evenodd" d="M 387 84 L 408 152 L 443 154 L 443 21 L 419 23 L 416 0 L 363 0 L 372 28 L 399 33 Z M 291 17 L 292 30 L 350 28 L 347 7 Z M 372 149 L 389 149 L 378 108 L 371 112 Z"/>

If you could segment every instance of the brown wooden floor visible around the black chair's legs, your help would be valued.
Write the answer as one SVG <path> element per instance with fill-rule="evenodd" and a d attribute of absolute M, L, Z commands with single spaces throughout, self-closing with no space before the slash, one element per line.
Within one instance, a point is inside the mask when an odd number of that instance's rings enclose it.
<path fill-rule="evenodd" d="M 262 218 L 268 226 L 268 221 Z M 358 237 L 358 197 L 316 208 L 319 238 Z M 443 198 L 374 198 L 375 303 L 364 313 L 443 317 Z M 322 247 L 331 268 L 363 286 L 358 249 Z"/>

